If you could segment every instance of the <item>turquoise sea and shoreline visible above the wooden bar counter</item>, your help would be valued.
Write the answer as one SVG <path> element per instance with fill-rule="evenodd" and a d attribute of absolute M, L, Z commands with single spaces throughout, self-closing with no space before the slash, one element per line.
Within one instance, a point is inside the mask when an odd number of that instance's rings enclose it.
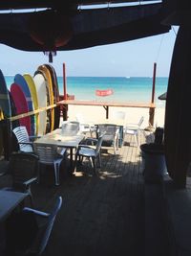
<path fill-rule="evenodd" d="M 12 76 L 5 76 L 8 88 L 13 82 Z M 60 94 L 63 94 L 63 78 L 57 77 Z M 150 103 L 152 96 L 152 78 L 146 77 L 67 77 L 67 93 L 75 100 L 94 100 L 120 103 Z M 164 107 L 165 101 L 159 101 L 160 94 L 167 90 L 168 78 L 156 78 L 155 102 Z M 96 90 L 112 89 L 113 95 L 96 96 Z"/>

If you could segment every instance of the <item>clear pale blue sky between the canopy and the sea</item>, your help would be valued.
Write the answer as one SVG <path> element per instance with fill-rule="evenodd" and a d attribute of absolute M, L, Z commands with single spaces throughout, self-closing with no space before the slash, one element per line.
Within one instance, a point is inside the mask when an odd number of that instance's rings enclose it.
<path fill-rule="evenodd" d="M 175 31 L 178 31 L 177 27 Z M 67 76 L 152 77 L 153 64 L 157 62 L 157 76 L 168 77 L 175 39 L 172 29 L 164 35 L 57 52 L 53 67 L 57 76 L 62 75 L 62 63 L 65 62 Z M 0 44 L 0 56 L 0 69 L 4 75 L 33 75 L 38 65 L 48 63 L 48 57 L 41 52 L 19 51 L 3 44 Z"/>

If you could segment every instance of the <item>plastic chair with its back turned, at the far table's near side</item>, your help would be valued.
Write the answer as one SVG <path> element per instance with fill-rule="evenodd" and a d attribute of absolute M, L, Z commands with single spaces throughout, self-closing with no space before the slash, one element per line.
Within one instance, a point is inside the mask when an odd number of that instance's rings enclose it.
<path fill-rule="evenodd" d="M 96 128 L 97 136 L 104 134 L 102 146 L 103 147 L 113 147 L 114 153 L 118 150 L 118 139 L 119 139 L 119 128 L 117 125 L 111 124 L 101 124 L 97 125 Z"/>

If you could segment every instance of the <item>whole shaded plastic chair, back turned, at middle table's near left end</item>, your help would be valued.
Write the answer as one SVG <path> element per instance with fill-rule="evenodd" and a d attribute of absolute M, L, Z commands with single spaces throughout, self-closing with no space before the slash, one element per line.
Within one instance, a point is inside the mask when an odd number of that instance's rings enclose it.
<path fill-rule="evenodd" d="M 58 154 L 56 145 L 34 143 L 33 150 L 39 157 L 39 169 L 40 165 L 53 165 L 55 185 L 59 185 L 59 170 L 66 149 L 63 148 L 63 150 Z"/>

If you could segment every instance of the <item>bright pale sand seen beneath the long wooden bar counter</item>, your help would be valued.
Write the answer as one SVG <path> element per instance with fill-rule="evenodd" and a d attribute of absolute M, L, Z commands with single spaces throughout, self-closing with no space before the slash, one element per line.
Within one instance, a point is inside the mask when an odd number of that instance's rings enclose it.
<path fill-rule="evenodd" d="M 148 108 L 138 108 L 138 107 L 114 107 L 110 106 L 109 116 L 115 111 L 125 111 L 126 121 L 125 123 L 138 123 L 141 116 L 144 117 L 144 122 L 141 128 L 146 128 L 149 125 L 149 109 Z M 164 125 L 164 107 L 156 107 L 155 109 L 155 119 L 154 127 L 163 127 Z M 103 106 L 89 106 L 89 105 L 69 105 L 68 109 L 68 119 L 70 121 L 75 120 L 76 113 L 82 113 L 84 120 L 87 122 L 96 123 L 106 117 L 106 110 Z"/>

